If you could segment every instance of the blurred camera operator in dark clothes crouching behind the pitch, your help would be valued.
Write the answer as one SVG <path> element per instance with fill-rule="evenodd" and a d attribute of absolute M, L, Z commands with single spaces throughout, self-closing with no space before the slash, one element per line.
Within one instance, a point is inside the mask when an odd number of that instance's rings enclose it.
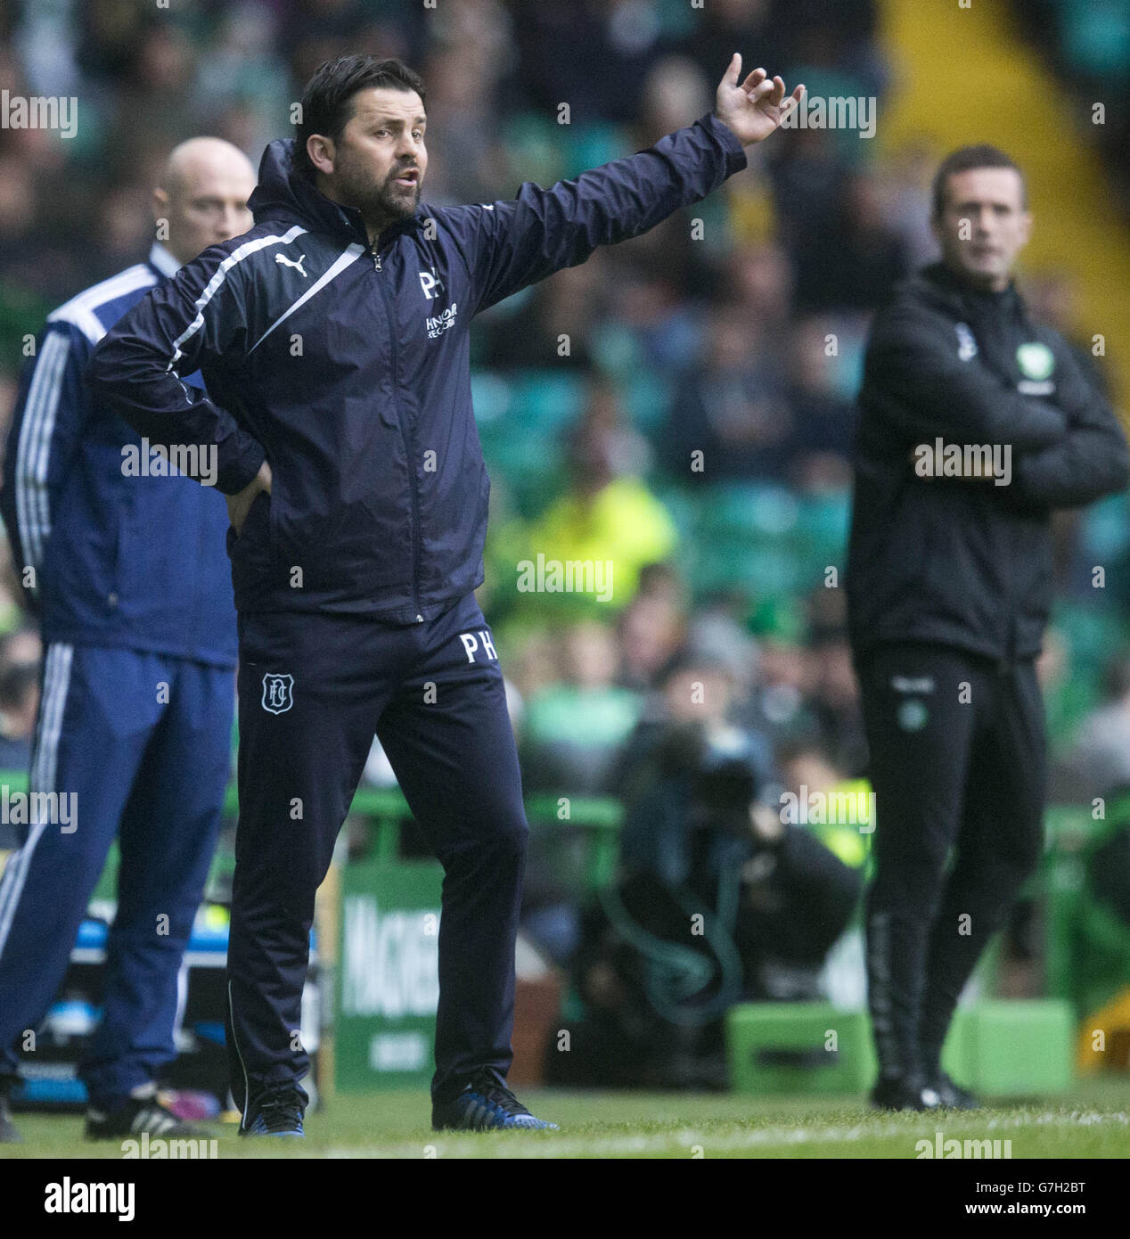
<path fill-rule="evenodd" d="M 731 694 L 721 667 L 677 657 L 624 752 L 621 878 L 585 916 L 575 971 L 587 1020 L 569 1058 L 600 1083 L 725 1087 L 726 1010 L 813 997 L 859 896 L 782 823 L 768 745 L 729 722 Z"/>

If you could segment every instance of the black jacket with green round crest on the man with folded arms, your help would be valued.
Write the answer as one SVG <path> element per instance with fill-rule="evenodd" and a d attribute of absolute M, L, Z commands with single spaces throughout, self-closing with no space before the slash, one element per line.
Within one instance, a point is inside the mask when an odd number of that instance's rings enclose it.
<path fill-rule="evenodd" d="M 1007 484 L 924 476 L 931 457 L 916 450 L 938 439 L 996 446 Z M 907 280 L 872 323 L 859 400 L 846 580 L 856 655 L 892 641 L 1038 653 L 1052 509 L 1126 479 L 1110 406 L 1015 287 L 974 292 L 940 264 Z"/>

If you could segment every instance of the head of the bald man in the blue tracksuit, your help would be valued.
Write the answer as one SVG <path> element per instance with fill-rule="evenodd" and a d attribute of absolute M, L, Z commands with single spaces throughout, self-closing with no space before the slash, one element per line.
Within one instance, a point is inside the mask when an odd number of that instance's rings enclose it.
<path fill-rule="evenodd" d="M 154 196 L 157 218 L 169 221 L 166 244 L 172 256 L 191 263 L 209 245 L 245 233 L 254 223 L 247 204 L 254 188 L 255 173 L 234 149 L 186 161 L 169 188 Z"/>

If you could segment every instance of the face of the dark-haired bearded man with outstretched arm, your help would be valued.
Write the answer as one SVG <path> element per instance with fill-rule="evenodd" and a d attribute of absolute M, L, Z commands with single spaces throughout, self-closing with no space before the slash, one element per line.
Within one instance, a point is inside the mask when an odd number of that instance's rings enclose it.
<path fill-rule="evenodd" d="M 311 139 L 325 155 L 315 166 L 330 197 L 358 209 L 366 222 L 403 219 L 416 209 L 427 171 L 424 103 L 415 90 L 385 87 L 358 90 L 352 103 L 353 115 L 336 142 Z"/>

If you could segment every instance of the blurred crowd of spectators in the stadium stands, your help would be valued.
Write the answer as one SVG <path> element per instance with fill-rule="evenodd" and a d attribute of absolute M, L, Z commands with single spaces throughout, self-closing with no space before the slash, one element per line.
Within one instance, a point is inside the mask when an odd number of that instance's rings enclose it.
<path fill-rule="evenodd" d="M 507 197 L 523 181 L 550 183 L 650 145 L 710 109 L 735 50 L 746 71 L 764 64 L 813 97 L 881 107 L 891 76 L 877 7 L 10 2 L 0 7 L 0 87 L 81 103 L 71 140 L 0 130 L 0 416 L 25 333 L 144 256 L 149 195 L 170 147 L 216 134 L 256 162 L 291 131 L 301 85 L 327 57 L 369 51 L 419 69 L 424 198 L 442 206 Z M 1032 16 L 1052 7 L 1032 4 Z M 1067 55 L 1074 45 L 1048 46 Z M 871 312 L 933 256 L 929 181 L 942 154 L 921 144 L 881 159 L 857 131 L 794 129 L 751 149 L 722 193 L 478 320 L 476 411 L 493 479 L 482 601 L 528 792 L 627 797 L 646 768 L 647 729 L 679 725 L 673 683 L 706 695 L 710 751 L 745 755 L 755 799 L 865 773 L 838 567 L 852 400 Z M 1069 336 L 1069 282 L 1051 274 L 1026 291 L 1037 316 Z M 1130 745 L 1098 751 L 1130 736 L 1120 653 L 1130 598 L 1113 587 L 1097 606 L 1084 569 L 1097 548 L 1104 563 L 1130 555 L 1130 522 L 1123 499 L 1100 507 L 1061 527 L 1066 601 L 1045 683 L 1061 755 L 1078 732 L 1103 777 L 1130 779 Z M 593 574 L 611 563 L 607 596 L 596 575 L 587 589 L 545 584 L 539 556 Z M 6 768 L 26 764 L 38 657 L 16 597 L 11 581 L 0 597 Z M 367 777 L 390 779 L 379 751 Z M 1072 794 L 1069 778 L 1061 787 Z M 857 869 L 860 857 L 844 862 Z M 581 933 L 575 914 L 558 914 L 569 908 L 567 865 L 535 846 L 527 909 L 563 963 Z M 834 903 L 854 887 L 829 870 L 828 891 Z"/>

